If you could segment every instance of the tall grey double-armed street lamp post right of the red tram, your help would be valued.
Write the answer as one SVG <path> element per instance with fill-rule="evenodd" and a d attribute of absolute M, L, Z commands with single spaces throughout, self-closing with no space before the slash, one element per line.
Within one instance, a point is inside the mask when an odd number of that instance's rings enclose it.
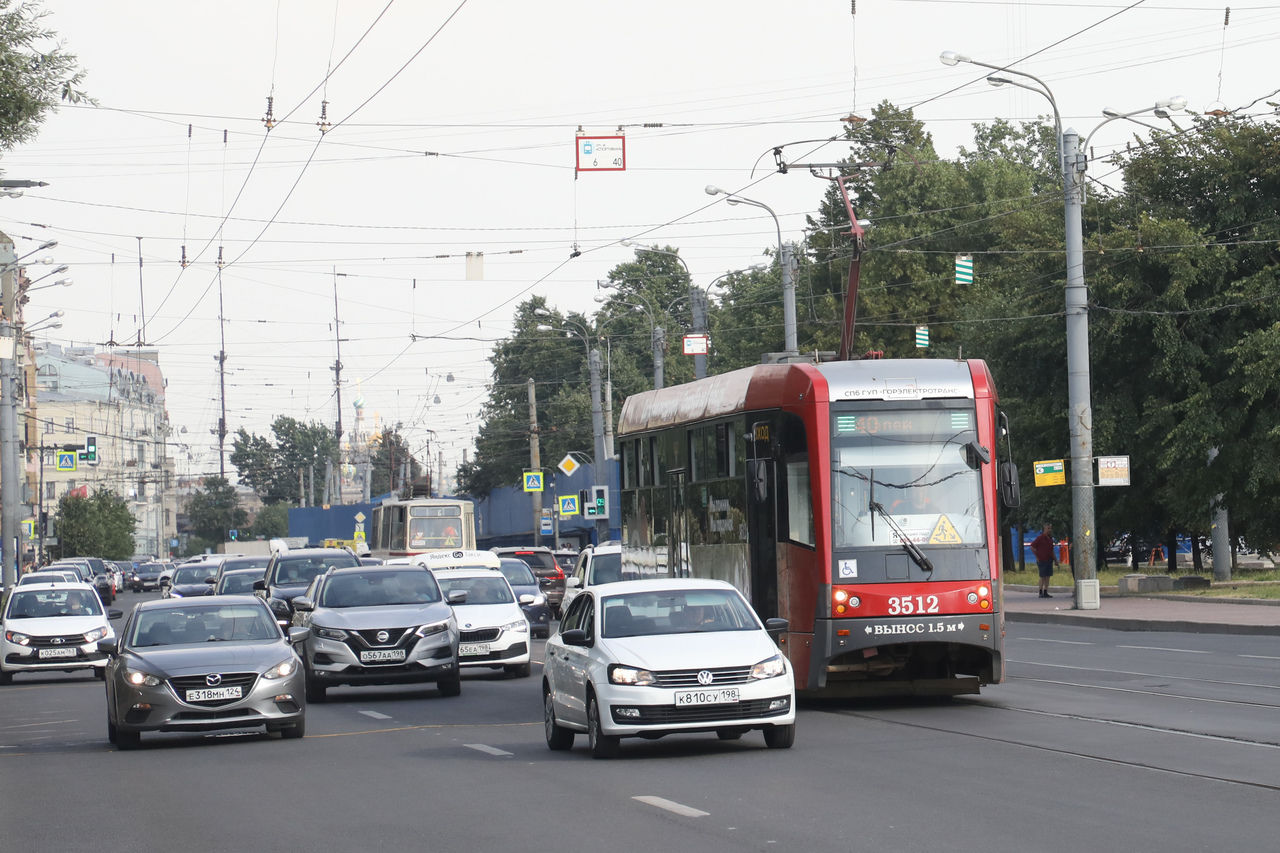
<path fill-rule="evenodd" d="M 1088 158 L 1082 152 L 1080 134 L 1074 128 L 1062 131 L 1057 100 L 1048 85 L 1033 74 L 1014 70 L 1005 65 L 992 65 L 954 50 L 946 50 L 938 56 L 943 65 L 968 63 L 996 72 L 988 77 L 993 85 L 1012 83 L 1020 88 L 1038 92 L 1048 99 L 1053 108 L 1055 134 L 1057 137 L 1059 168 L 1062 172 L 1062 206 L 1065 222 L 1066 248 L 1066 394 L 1071 434 L 1071 574 L 1075 576 L 1076 610 L 1098 610 L 1097 575 L 1097 529 L 1093 503 L 1093 407 L 1091 403 L 1089 379 L 1089 306 L 1088 287 L 1084 282 L 1084 172 Z M 1018 83 L 1005 77 L 1014 74 L 1034 81 L 1036 88 Z M 1148 110 L 1176 106 L 1179 100 L 1170 99 L 1132 113 L 1116 113 L 1102 124 L 1117 118 L 1132 118 Z M 1100 124 L 1098 127 L 1102 127 Z M 1094 132 L 1097 128 L 1094 128 Z M 1092 137 L 1093 133 L 1089 133 Z M 1088 147 L 1088 138 L 1085 146 Z"/>

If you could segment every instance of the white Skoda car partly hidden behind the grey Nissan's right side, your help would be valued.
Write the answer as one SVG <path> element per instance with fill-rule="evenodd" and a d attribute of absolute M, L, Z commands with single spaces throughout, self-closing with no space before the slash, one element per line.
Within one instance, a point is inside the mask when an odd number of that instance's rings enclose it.
<path fill-rule="evenodd" d="M 458 665 L 462 669 L 488 666 L 515 678 L 530 672 L 529 619 L 521 605 L 530 605 L 532 596 L 520 601 L 511 584 L 494 569 L 433 569 L 445 598 L 462 590 L 467 599 L 453 606 L 458 622 Z"/>

